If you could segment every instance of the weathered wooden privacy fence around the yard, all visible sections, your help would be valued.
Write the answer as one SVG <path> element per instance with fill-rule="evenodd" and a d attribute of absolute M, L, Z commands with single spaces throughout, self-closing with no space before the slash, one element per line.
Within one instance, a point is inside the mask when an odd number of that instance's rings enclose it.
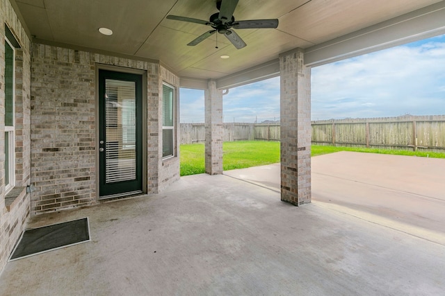
<path fill-rule="evenodd" d="M 204 123 L 181 123 L 181 143 L 204 143 Z M 224 123 L 223 141 L 280 141 L 279 123 Z M 312 121 L 312 143 L 445 152 L 445 115 Z"/>

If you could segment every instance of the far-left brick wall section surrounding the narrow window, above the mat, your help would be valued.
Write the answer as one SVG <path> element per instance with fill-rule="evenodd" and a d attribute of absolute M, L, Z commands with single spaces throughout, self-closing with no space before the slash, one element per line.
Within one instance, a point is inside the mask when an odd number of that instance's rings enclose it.
<path fill-rule="evenodd" d="M 31 42 L 8 0 L 0 0 L 0 273 L 29 218 Z M 15 188 L 5 194 L 5 28 L 21 49 L 15 50 Z"/>

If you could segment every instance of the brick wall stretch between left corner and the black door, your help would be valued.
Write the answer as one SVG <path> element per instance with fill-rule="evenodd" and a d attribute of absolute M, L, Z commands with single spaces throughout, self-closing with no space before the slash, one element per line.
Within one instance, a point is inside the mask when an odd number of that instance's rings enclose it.
<path fill-rule="evenodd" d="M 96 202 L 95 55 L 33 44 L 33 214 Z"/>

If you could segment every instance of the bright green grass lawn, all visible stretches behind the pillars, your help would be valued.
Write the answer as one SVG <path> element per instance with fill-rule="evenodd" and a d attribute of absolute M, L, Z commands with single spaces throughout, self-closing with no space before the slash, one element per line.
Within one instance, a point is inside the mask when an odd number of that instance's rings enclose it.
<path fill-rule="evenodd" d="M 312 146 L 311 153 L 312 156 L 316 156 L 339 151 L 445 158 L 445 153 L 317 145 Z M 204 144 L 181 145 L 180 155 L 181 176 L 205 173 Z M 224 171 L 277 162 L 280 162 L 280 142 L 236 141 L 223 143 Z"/>

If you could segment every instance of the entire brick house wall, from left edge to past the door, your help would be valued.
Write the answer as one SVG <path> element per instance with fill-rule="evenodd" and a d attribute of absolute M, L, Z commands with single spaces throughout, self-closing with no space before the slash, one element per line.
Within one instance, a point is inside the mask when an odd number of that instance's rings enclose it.
<path fill-rule="evenodd" d="M 179 179 L 179 155 L 162 159 L 162 82 L 179 78 L 158 62 L 33 44 L 8 0 L 0 0 L 0 23 L 22 46 L 15 58 L 15 198 L 5 194 L 5 31 L 0 30 L 0 272 L 22 234 L 30 212 L 95 204 L 97 64 L 147 71 L 147 193 Z M 32 78 L 31 78 L 32 77 Z M 177 92 L 178 94 L 178 92 Z M 177 95 L 177 108 L 179 96 Z M 178 109 L 177 109 L 178 110 Z M 32 115 L 32 116 L 31 116 Z M 177 114 L 177 124 L 179 114 Z M 32 134 L 31 134 L 32 130 Z M 179 133 L 176 134 L 179 143 Z M 32 182 L 32 183 L 31 183 Z M 35 189 L 27 193 L 26 186 Z M 9 193 L 10 195 L 10 193 Z M 31 207 L 30 207 L 31 205 Z M 31 209 L 31 211 L 30 211 Z"/>

